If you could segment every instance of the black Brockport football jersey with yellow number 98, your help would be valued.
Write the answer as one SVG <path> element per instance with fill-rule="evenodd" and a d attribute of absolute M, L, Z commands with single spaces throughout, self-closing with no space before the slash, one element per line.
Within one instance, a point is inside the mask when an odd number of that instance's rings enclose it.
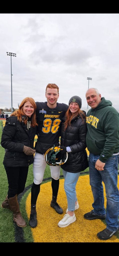
<path fill-rule="evenodd" d="M 61 122 L 68 105 L 57 103 L 54 109 L 49 108 L 47 102 L 36 102 L 36 105 L 38 140 L 35 143 L 35 150 L 40 154 L 44 154 L 53 145 L 59 146 Z"/>

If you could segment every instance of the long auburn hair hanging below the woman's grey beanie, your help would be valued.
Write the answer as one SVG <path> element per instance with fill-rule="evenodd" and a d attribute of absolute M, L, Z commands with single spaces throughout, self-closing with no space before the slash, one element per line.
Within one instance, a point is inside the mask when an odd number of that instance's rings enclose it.
<path fill-rule="evenodd" d="M 82 110 L 80 110 L 80 108 L 73 115 L 72 115 L 72 112 L 70 111 L 70 109 L 68 108 L 68 110 L 67 110 L 67 112 L 65 114 L 66 121 L 64 122 L 64 131 L 67 129 L 67 126 L 71 126 L 72 119 L 76 118 L 79 115 L 82 118 L 82 121 L 84 123 L 84 118 L 86 119 L 86 115 L 85 115 L 85 113 Z"/>

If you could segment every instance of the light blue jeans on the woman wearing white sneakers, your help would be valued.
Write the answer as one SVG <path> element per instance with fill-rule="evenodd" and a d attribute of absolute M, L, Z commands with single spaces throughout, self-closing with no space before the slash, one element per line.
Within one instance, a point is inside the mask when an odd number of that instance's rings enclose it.
<path fill-rule="evenodd" d="M 78 173 L 69 173 L 63 170 L 64 175 L 64 189 L 67 196 L 68 211 L 75 210 L 75 202 L 77 201 L 76 197 L 76 183 L 78 181 L 80 172 Z"/>

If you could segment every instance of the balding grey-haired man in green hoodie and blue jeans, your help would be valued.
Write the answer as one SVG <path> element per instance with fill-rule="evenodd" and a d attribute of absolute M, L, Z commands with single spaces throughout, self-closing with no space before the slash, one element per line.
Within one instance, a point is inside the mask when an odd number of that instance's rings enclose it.
<path fill-rule="evenodd" d="M 86 92 L 88 105 L 86 143 L 89 154 L 89 176 L 93 193 L 93 210 L 85 219 L 105 219 L 106 228 L 97 234 L 101 240 L 108 240 L 118 231 L 119 191 L 117 188 L 119 156 L 119 113 L 112 102 L 101 98 L 95 88 Z M 106 211 L 104 208 L 104 182 L 106 190 Z"/>

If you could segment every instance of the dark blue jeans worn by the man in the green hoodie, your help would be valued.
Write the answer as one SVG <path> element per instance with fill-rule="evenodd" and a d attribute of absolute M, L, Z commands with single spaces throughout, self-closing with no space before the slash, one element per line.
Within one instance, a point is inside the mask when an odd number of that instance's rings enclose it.
<path fill-rule="evenodd" d="M 104 166 L 103 171 L 95 168 L 96 161 L 100 156 L 89 154 L 89 176 L 94 202 L 92 207 L 96 215 L 106 215 L 106 225 L 110 231 L 118 229 L 119 215 L 119 191 L 117 188 L 118 155 L 110 157 Z M 106 191 L 106 212 L 104 208 L 103 185 Z"/>

